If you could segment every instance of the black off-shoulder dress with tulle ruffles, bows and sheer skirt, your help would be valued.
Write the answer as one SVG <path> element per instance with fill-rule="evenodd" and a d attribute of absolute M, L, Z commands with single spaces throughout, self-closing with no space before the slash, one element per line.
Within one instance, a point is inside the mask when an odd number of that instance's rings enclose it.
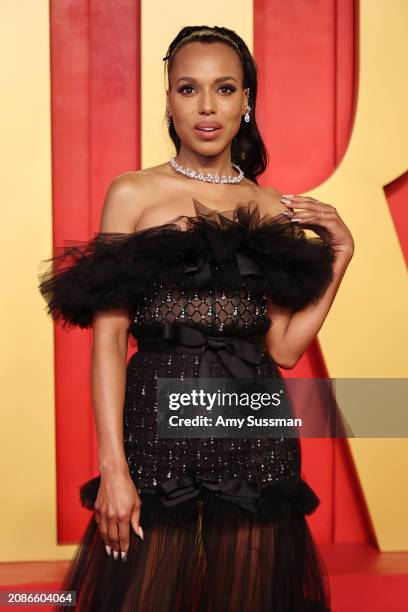
<path fill-rule="evenodd" d="M 56 322 L 86 328 L 94 312 L 126 308 L 138 343 L 123 425 L 145 537 L 131 528 L 127 561 L 114 560 L 92 514 L 61 588 L 81 612 L 327 612 L 305 518 L 320 500 L 300 476 L 299 440 L 170 439 L 156 425 L 158 378 L 281 377 L 262 345 L 267 300 L 294 312 L 315 302 L 334 253 L 254 201 L 227 212 L 193 201 L 194 216 L 100 232 L 45 260 L 39 288 Z M 80 488 L 90 510 L 99 478 Z"/>

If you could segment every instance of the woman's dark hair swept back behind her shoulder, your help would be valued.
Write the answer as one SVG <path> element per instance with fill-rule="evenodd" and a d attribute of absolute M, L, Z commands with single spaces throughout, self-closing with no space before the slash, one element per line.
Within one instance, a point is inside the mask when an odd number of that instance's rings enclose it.
<path fill-rule="evenodd" d="M 170 86 L 170 71 L 176 52 L 186 44 L 199 41 L 202 43 L 223 42 L 234 49 L 241 61 L 244 72 L 244 88 L 249 87 L 248 104 L 251 107 L 250 122 L 241 119 L 241 126 L 231 145 L 231 161 L 238 164 L 245 176 L 258 184 L 256 177 L 265 171 L 268 163 L 268 153 L 256 125 L 256 93 L 258 88 L 257 69 L 254 58 L 248 47 L 238 34 L 228 28 L 218 26 L 186 26 L 172 40 L 167 50 L 165 70 L 167 66 L 168 83 Z M 177 153 L 180 150 L 180 138 L 174 129 L 173 119 L 170 120 L 169 134 Z"/>

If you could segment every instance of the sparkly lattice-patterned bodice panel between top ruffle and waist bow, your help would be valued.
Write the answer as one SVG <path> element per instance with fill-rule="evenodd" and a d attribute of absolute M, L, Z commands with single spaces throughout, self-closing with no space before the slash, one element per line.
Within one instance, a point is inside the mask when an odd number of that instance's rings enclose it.
<path fill-rule="evenodd" d="M 151 335 L 165 322 L 186 323 L 215 335 L 262 333 L 270 326 L 266 315 L 266 292 L 239 289 L 195 289 L 166 287 L 154 282 L 144 292 L 133 313 L 131 326 L 136 336 Z"/>

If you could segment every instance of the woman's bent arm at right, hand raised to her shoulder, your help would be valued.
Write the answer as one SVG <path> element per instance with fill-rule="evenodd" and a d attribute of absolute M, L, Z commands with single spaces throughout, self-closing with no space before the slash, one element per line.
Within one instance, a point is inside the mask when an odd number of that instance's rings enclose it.
<path fill-rule="evenodd" d="M 333 279 L 317 303 L 311 303 L 294 313 L 273 304 L 268 305 L 272 326 L 266 337 L 267 349 L 279 366 L 291 369 L 324 323 L 353 257 L 354 241 L 334 206 L 305 196 L 282 196 L 281 201 L 290 209 L 301 209 L 293 214 L 288 212 L 292 223 L 310 226 L 330 243 L 335 253 Z"/>

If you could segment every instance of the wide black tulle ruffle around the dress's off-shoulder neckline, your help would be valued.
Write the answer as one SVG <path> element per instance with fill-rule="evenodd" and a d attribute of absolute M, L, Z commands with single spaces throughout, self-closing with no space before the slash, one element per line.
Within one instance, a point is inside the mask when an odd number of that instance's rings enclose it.
<path fill-rule="evenodd" d="M 306 236 L 285 215 L 261 218 L 255 201 L 225 212 L 197 200 L 194 207 L 195 216 L 132 233 L 99 232 L 88 242 L 56 247 L 39 273 L 47 314 L 64 326 L 86 328 L 96 311 L 131 313 L 154 279 L 169 288 L 183 282 L 186 288 L 221 289 L 238 289 L 244 280 L 250 290 L 297 311 L 318 300 L 331 282 L 331 245 Z"/>

